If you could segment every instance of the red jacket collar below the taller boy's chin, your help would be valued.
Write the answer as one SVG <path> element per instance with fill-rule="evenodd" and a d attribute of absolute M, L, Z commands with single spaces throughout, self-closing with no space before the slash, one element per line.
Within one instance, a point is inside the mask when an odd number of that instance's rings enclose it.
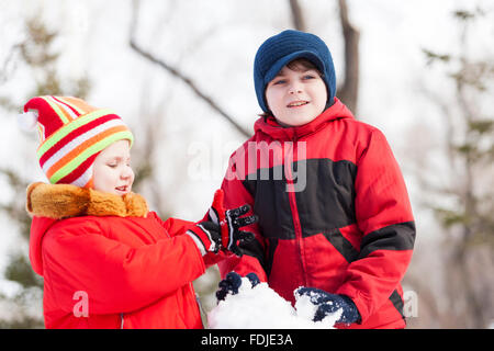
<path fill-rule="evenodd" d="M 265 133 L 273 139 L 294 140 L 317 132 L 328 122 L 339 118 L 353 118 L 353 115 L 338 98 L 335 98 L 335 103 L 330 107 L 307 124 L 296 127 L 282 127 L 273 116 L 267 116 L 257 120 L 254 129 L 256 133 Z"/>

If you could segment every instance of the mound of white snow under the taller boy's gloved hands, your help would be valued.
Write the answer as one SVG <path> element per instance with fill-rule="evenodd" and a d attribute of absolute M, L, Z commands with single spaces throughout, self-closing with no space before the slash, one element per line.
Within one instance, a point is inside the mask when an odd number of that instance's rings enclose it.
<path fill-rule="evenodd" d="M 207 314 L 211 329 L 334 329 L 341 309 L 321 321 L 312 321 L 316 307 L 310 296 L 301 296 L 292 307 L 267 283 L 252 287 L 242 279 L 238 294 L 228 294 Z"/>

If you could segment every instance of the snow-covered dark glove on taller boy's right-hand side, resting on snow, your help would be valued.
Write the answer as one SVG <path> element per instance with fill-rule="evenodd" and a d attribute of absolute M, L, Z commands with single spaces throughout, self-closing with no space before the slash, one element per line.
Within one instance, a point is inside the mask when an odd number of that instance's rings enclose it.
<path fill-rule="evenodd" d="M 329 294 L 315 287 L 299 287 L 295 290 L 294 294 L 296 299 L 299 299 L 300 296 L 308 296 L 311 303 L 317 306 L 313 318 L 314 321 L 323 320 L 324 317 L 340 308 L 343 309 L 343 313 L 336 322 L 349 325 L 359 321 L 361 318 L 357 306 L 348 296 Z"/>

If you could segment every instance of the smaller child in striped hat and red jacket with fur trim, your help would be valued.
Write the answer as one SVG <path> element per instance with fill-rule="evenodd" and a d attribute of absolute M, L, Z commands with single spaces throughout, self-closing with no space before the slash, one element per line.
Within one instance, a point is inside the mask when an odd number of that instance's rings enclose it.
<path fill-rule="evenodd" d="M 37 126 L 50 184 L 27 189 L 30 260 L 44 278 L 46 328 L 202 328 L 192 281 L 221 250 L 238 252 L 248 207 L 189 223 L 162 222 L 132 192 L 133 135 L 110 110 L 65 97 L 31 99 L 20 116 Z"/>

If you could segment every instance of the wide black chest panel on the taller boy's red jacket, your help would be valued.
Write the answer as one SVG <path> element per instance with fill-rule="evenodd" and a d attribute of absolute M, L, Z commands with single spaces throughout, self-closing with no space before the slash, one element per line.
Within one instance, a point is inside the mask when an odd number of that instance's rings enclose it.
<path fill-rule="evenodd" d="M 327 228 L 341 228 L 356 223 L 355 178 L 357 166 L 347 160 L 308 159 L 294 162 L 300 178 L 295 183 L 305 184 L 295 192 L 299 219 L 304 237 Z M 301 172 L 301 169 L 305 169 Z M 301 179 L 305 178 L 305 179 Z M 252 195 L 254 212 L 267 238 L 294 239 L 293 214 L 283 166 L 258 169 L 243 180 Z"/>

